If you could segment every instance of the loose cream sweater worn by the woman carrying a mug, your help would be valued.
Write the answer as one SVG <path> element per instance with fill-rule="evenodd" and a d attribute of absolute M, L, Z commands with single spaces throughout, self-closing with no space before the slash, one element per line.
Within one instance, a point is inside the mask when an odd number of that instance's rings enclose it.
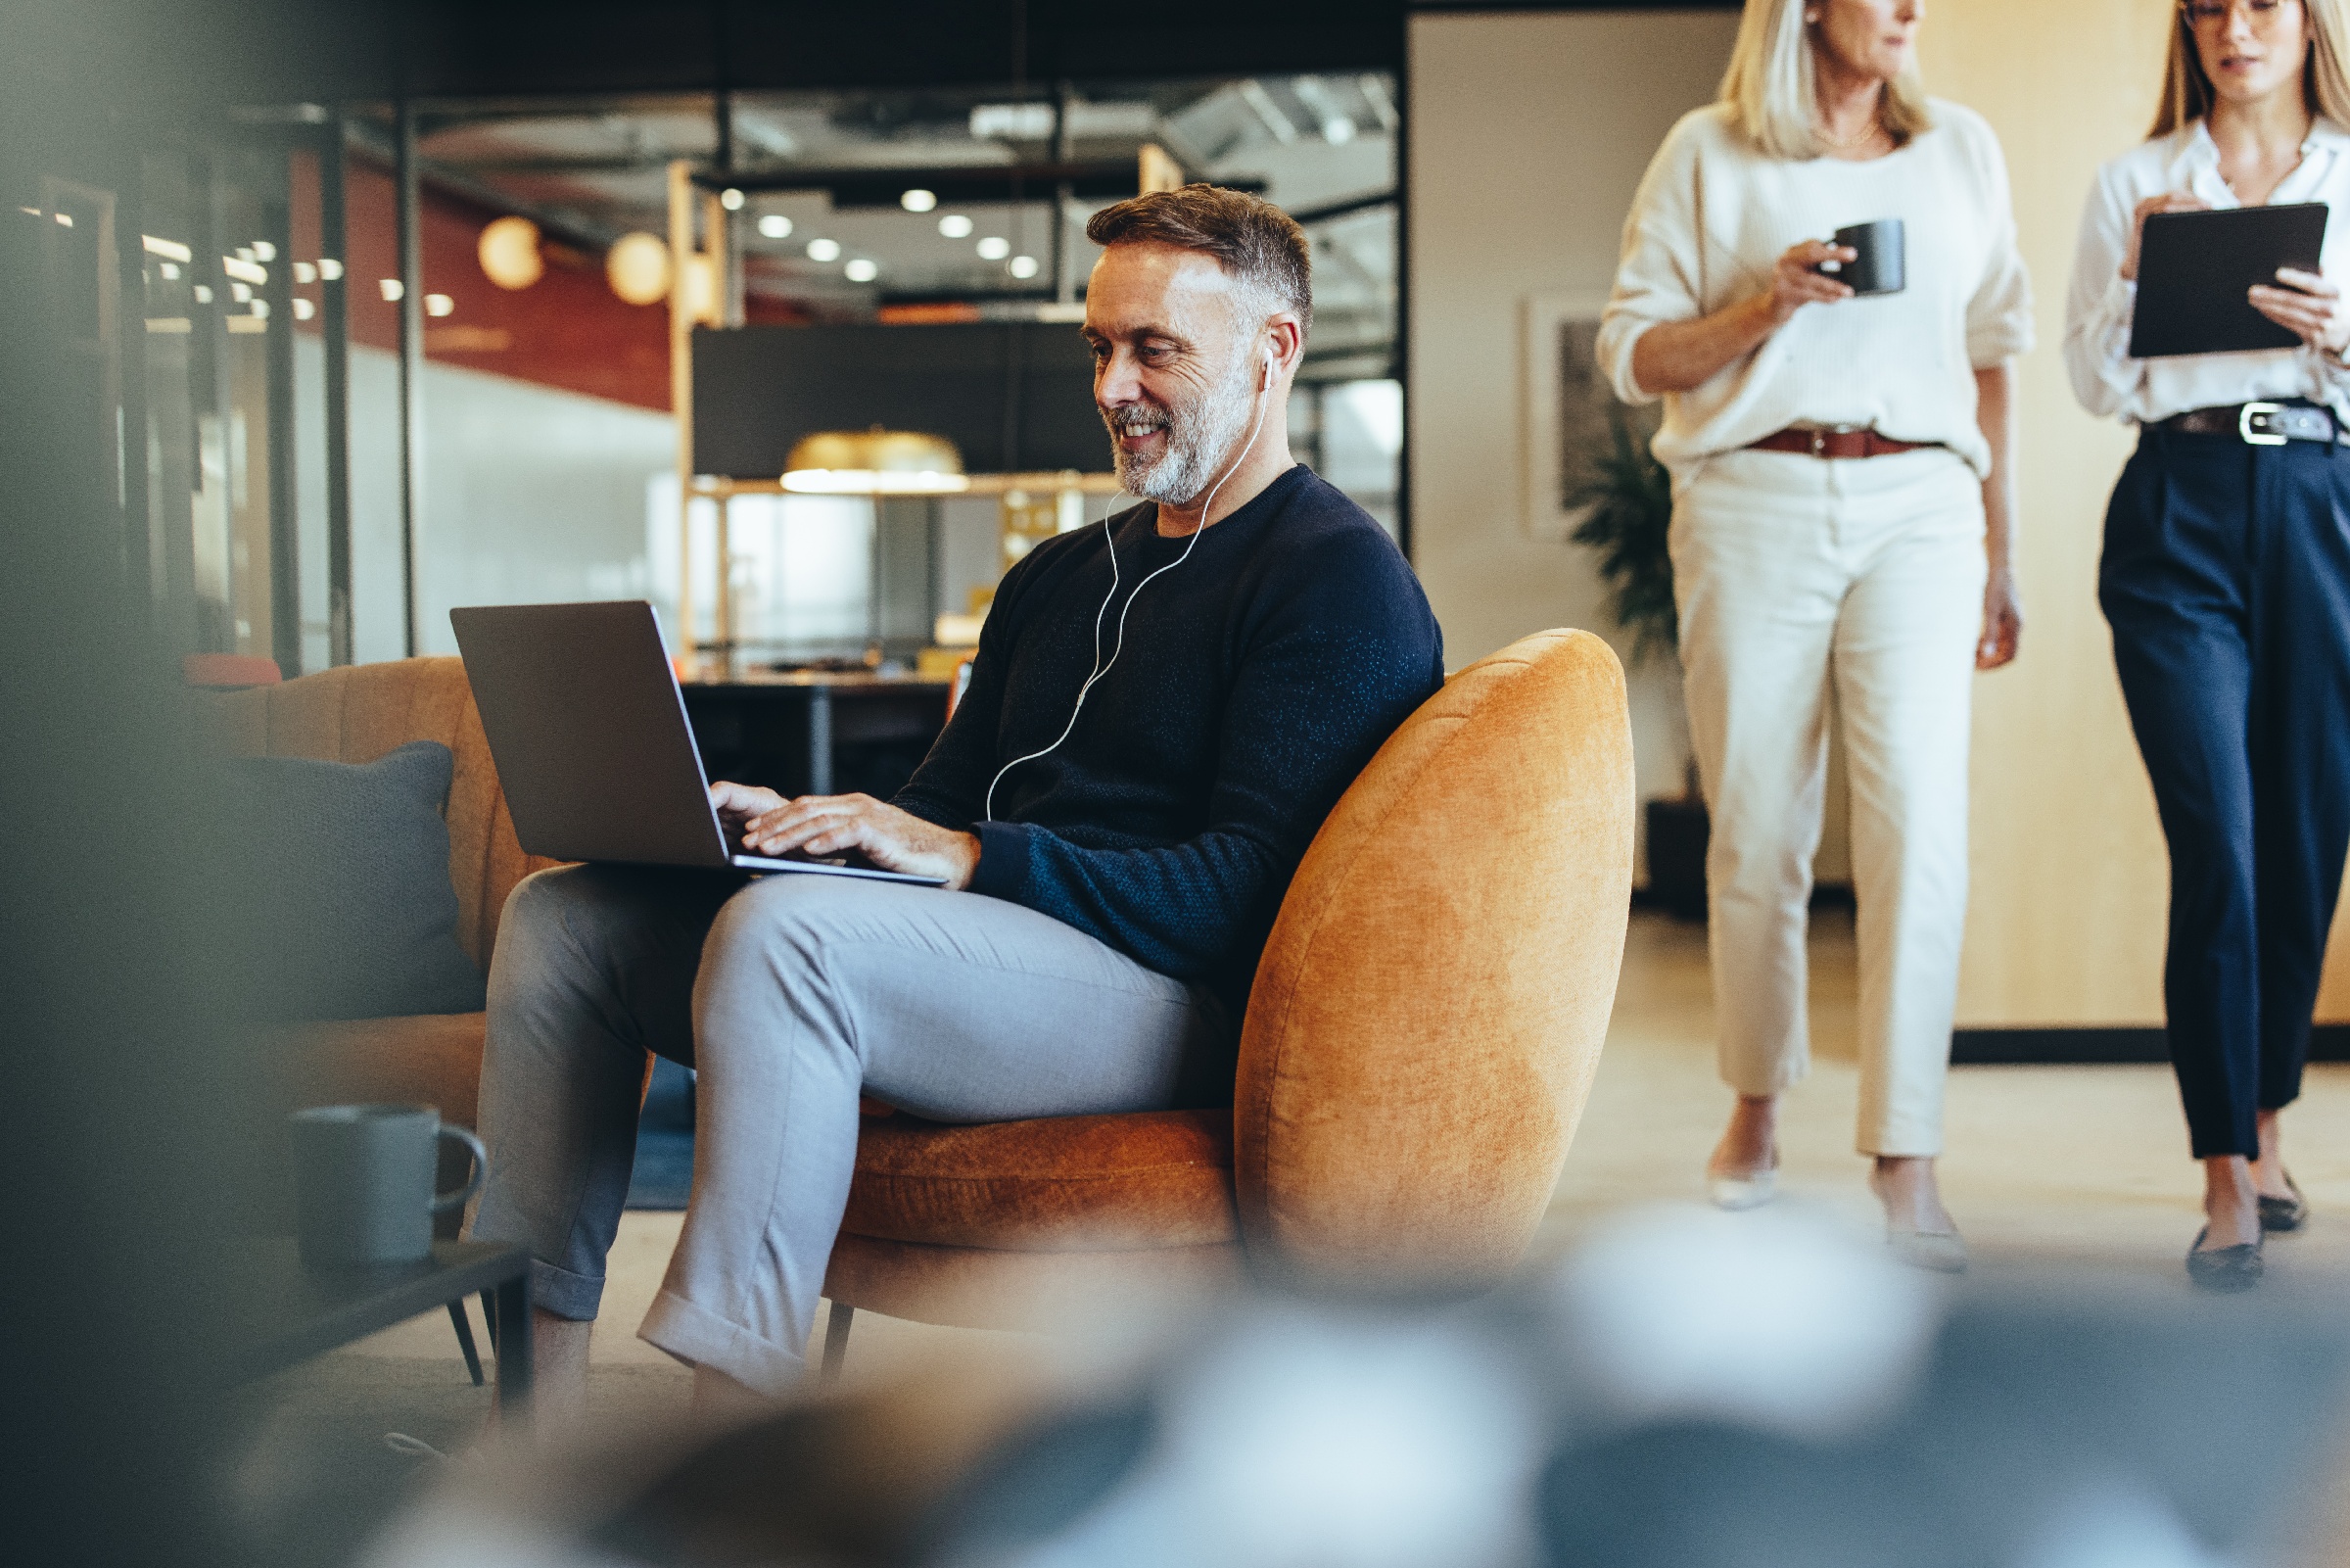
<path fill-rule="evenodd" d="M 1643 331 L 1760 294 L 1800 240 L 1901 219 L 1908 287 L 1802 306 L 1704 386 L 1666 393 L 1657 461 L 1687 465 L 1798 423 L 1868 425 L 1950 447 L 1990 475 L 1974 371 L 2030 348 L 2030 277 L 1998 136 L 1958 103 L 1934 99 L 1929 113 L 1932 129 L 1866 162 L 1770 158 L 1720 103 L 1664 139 L 1624 221 L 1600 320 L 1598 362 L 1617 397 L 1654 402 L 1631 374 Z"/>

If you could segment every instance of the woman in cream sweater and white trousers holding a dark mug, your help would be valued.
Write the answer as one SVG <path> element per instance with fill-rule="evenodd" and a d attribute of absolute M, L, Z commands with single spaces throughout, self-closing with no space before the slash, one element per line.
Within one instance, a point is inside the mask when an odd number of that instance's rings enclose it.
<path fill-rule="evenodd" d="M 1598 357 L 1664 397 L 1673 592 L 1723 1079 L 1706 1168 L 1772 1194 L 1810 1067 L 1805 910 L 1833 684 L 1852 766 L 1861 1154 L 1887 1239 L 1965 1267 L 1934 1180 L 1967 912 L 1972 672 L 2014 658 L 2009 360 L 2030 343 L 2000 143 L 1918 85 L 1918 0 L 1746 0 L 1720 103 L 1666 136 L 1624 226 Z M 1906 287 L 1824 242 L 1899 219 Z M 1882 228 L 1880 228 L 1882 233 Z M 1880 240 L 1882 244 L 1882 240 Z M 1871 256 L 1878 277 L 1887 256 Z M 1859 268 L 1856 268 L 1859 270 Z M 1988 545 L 1988 559 L 1986 559 Z"/>

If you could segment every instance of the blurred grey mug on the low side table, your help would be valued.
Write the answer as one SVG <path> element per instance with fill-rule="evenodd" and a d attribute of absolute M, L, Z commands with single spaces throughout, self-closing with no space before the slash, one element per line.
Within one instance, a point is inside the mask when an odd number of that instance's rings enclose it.
<path fill-rule="evenodd" d="M 472 1150 L 472 1180 L 432 1192 L 439 1140 Z M 294 1112 L 294 1213 L 301 1258 L 322 1267 L 418 1262 L 432 1215 L 482 1187 L 489 1154 L 430 1105 L 313 1105 Z"/>

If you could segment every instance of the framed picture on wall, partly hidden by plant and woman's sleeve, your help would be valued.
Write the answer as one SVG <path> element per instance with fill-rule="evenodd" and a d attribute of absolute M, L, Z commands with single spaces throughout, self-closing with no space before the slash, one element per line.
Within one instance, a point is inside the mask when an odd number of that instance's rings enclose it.
<path fill-rule="evenodd" d="M 1528 294 L 1518 308 L 1518 505 L 1532 538 L 1565 541 L 1591 512 L 1572 501 L 1591 461 L 1614 449 L 1610 411 L 1622 411 L 1640 444 L 1657 433 L 1657 409 L 1617 402 L 1593 353 L 1605 289 Z"/>

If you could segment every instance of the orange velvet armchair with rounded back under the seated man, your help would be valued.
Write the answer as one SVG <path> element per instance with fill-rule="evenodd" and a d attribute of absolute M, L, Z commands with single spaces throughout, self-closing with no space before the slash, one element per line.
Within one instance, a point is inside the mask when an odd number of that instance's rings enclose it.
<path fill-rule="evenodd" d="M 1542 632 L 1455 675 L 1307 851 L 1229 1112 L 865 1124 L 848 1312 L 975 1328 L 1234 1279 L 1476 1291 L 1525 1255 L 1598 1070 L 1631 903 L 1624 672 Z"/>

